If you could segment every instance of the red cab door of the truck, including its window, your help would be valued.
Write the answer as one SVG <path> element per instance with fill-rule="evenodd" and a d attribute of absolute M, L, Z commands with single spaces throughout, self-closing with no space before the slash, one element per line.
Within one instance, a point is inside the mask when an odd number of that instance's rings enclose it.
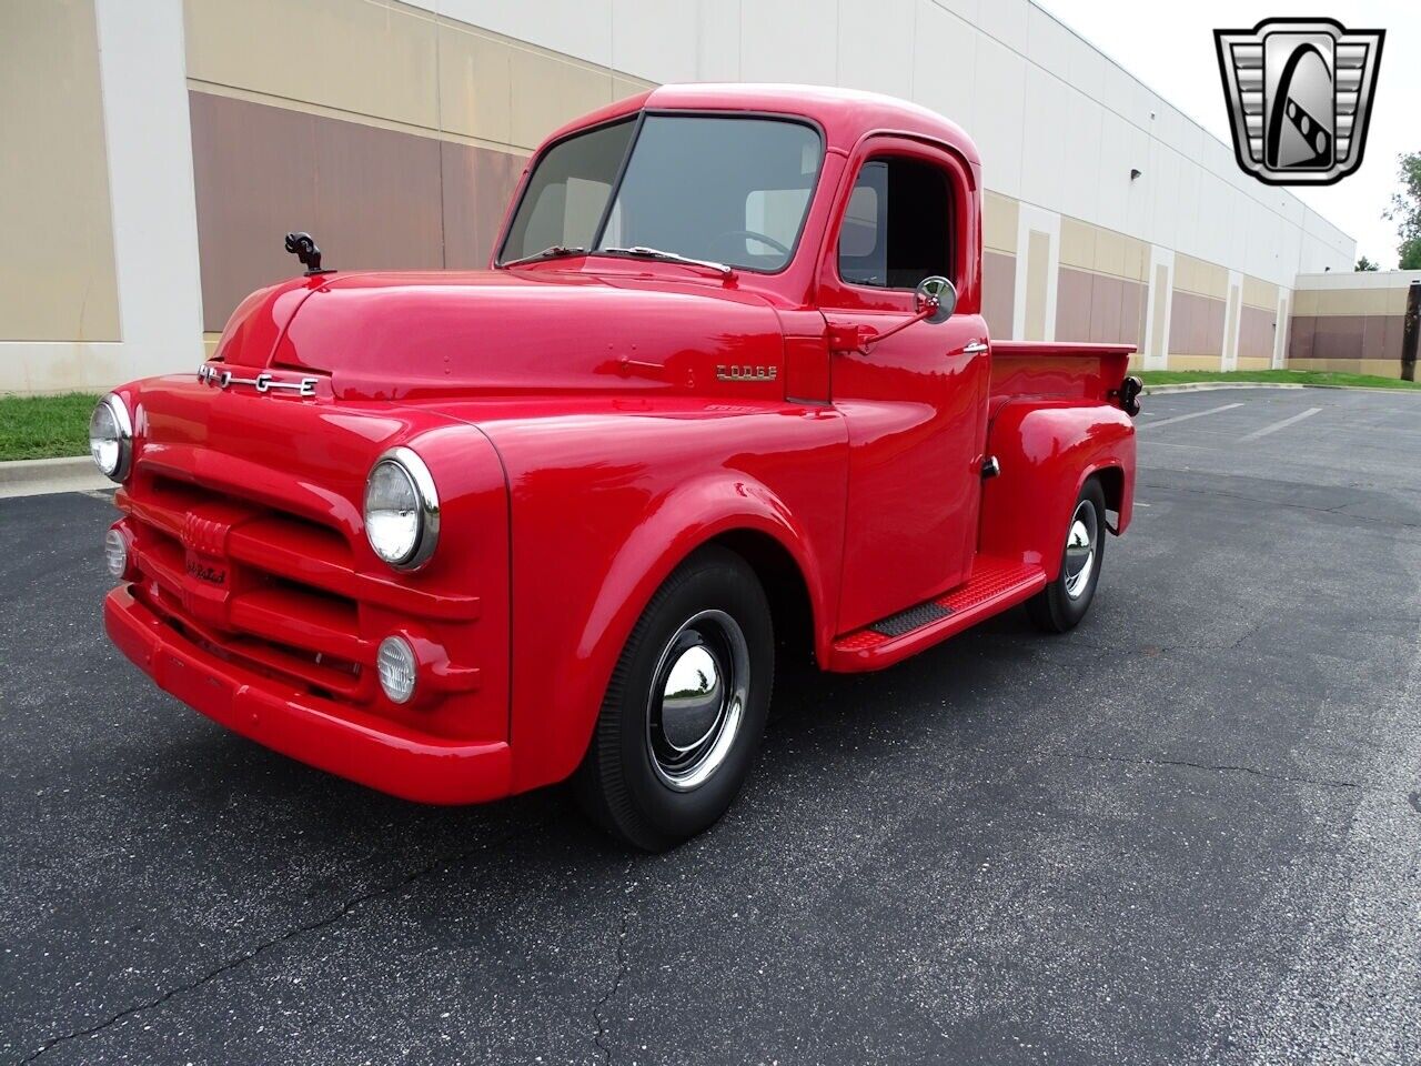
<path fill-rule="evenodd" d="M 959 300 L 946 321 L 831 355 L 850 442 L 840 632 L 968 580 L 989 382 L 975 176 L 948 152 L 901 138 L 870 139 L 855 155 L 820 270 L 831 335 L 902 323 L 932 274 L 951 279 Z"/>

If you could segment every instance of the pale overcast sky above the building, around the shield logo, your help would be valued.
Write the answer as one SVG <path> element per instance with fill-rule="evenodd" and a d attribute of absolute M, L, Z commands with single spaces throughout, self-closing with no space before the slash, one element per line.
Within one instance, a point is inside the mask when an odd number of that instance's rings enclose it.
<path fill-rule="evenodd" d="M 1292 186 L 1292 192 L 1354 237 L 1358 256 L 1367 256 L 1383 270 L 1397 266 L 1397 227 L 1381 212 L 1400 188 L 1397 156 L 1421 152 L 1421 3 L 1036 1 L 1231 148 L 1214 30 L 1252 28 L 1263 18 L 1314 14 L 1326 14 L 1353 30 L 1385 30 L 1361 168 L 1336 185 Z"/>

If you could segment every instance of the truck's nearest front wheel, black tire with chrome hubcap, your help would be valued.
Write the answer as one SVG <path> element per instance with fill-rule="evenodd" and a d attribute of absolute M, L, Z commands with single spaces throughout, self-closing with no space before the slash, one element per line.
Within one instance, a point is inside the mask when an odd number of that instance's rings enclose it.
<path fill-rule="evenodd" d="M 681 701 L 666 698 L 674 677 L 691 678 Z M 622 648 L 574 779 L 583 810 L 645 851 L 709 829 L 750 773 L 773 681 L 764 588 L 740 556 L 701 549 L 657 590 Z M 696 741 L 712 714 L 720 725 Z"/>

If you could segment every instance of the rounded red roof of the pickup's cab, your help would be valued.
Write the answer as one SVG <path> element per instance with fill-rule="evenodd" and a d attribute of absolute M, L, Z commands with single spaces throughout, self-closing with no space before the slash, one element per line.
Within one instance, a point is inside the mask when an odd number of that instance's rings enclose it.
<path fill-rule="evenodd" d="M 955 148 L 969 163 L 980 166 L 972 138 L 956 122 L 925 107 L 897 97 L 826 85 L 699 82 L 659 85 L 627 97 L 590 115 L 583 115 L 554 132 L 547 142 L 644 108 L 666 111 L 759 111 L 796 115 L 816 121 L 824 129 L 826 149 L 851 149 L 864 134 L 891 131 L 928 138 Z M 547 144 L 544 142 L 544 144 Z"/>

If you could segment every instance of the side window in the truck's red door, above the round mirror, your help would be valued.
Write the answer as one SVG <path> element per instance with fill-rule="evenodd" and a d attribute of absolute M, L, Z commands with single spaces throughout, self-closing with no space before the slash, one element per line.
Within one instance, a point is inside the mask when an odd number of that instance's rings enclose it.
<path fill-rule="evenodd" d="M 838 276 L 875 289 L 952 277 L 952 189 L 919 159 L 870 159 L 858 172 L 838 235 Z"/>

